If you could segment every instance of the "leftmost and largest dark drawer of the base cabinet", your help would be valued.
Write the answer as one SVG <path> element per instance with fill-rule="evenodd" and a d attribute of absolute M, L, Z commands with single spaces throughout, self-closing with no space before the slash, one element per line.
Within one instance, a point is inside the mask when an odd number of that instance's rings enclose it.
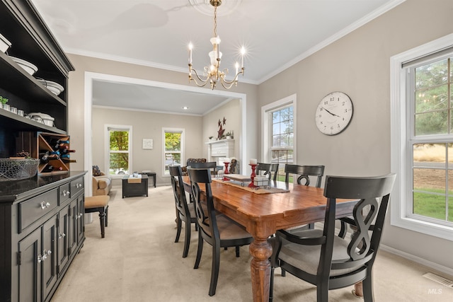
<path fill-rule="evenodd" d="M 52 211 L 52 209 L 55 209 L 57 205 L 58 190 L 56 188 L 21 202 L 19 204 L 19 225 L 21 226 L 21 231 Z"/>

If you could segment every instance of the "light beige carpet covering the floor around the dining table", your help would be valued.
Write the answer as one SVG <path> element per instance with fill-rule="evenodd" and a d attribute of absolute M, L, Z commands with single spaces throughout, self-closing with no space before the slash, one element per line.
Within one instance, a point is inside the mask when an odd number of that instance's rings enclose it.
<path fill-rule="evenodd" d="M 234 248 L 221 250 L 215 296 L 208 296 L 211 247 L 205 243 L 199 269 L 193 269 L 197 233 L 183 258 L 184 230 L 176 236 L 171 187 L 149 187 L 149 197 L 121 198 L 111 192 L 105 238 L 97 214 L 85 228 L 86 241 L 69 267 L 52 302 L 70 301 L 251 301 L 248 246 L 236 258 Z M 380 251 L 374 265 L 376 301 L 453 301 L 453 289 L 422 277 L 430 269 Z M 451 279 L 451 277 L 450 277 Z M 363 301 L 353 287 L 329 292 L 329 301 Z M 316 289 L 296 277 L 275 274 L 274 301 L 316 301 Z"/>

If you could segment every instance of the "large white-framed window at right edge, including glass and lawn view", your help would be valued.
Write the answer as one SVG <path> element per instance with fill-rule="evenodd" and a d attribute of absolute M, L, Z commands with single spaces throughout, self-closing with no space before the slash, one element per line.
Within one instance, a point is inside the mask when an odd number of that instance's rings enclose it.
<path fill-rule="evenodd" d="M 391 223 L 453 240 L 453 35 L 391 59 Z"/>

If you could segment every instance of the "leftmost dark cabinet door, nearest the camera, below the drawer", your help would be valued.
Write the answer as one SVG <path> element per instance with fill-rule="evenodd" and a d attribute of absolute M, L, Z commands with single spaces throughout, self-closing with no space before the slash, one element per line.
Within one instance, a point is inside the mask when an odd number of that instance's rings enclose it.
<path fill-rule="evenodd" d="M 19 301 L 41 301 L 41 228 L 19 242 Z"/>

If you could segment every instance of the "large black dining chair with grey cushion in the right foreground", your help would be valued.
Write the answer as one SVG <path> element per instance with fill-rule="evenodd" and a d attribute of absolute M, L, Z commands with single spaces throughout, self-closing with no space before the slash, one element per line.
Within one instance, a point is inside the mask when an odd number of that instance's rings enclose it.
<path fill-rule="evenodd" d="M 365 301 L 374 301 L 372 268 L 395 177 L 394 173 L 365 178 L 327 176 L 323 193 L 327 198 L 323 229 L 305 230 L 297 235 L 277 231 L 277 243 L 273 243 L 277 252 L 271 265 L 277 264 L 295 277 L 316 285 L 319 302 L 328 301 L 330 289 L 360 281 Z M 357 199 L 352 200 L 355 202 L 352 218 L 340 218 L 353 226 L 354 232 L 345 238 L 336 235 L 337 199 Z M 272 301 L 273 266 L 270 279 Z"/>

